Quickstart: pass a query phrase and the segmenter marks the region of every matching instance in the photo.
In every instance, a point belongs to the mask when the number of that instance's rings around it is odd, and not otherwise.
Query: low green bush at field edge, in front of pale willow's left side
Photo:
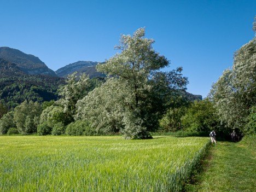
[[[75,121],[67,126],[66,135],[84,135],[84,136],[90,136],[90,135],[96,135],[96,131],[91,128],[89,123],[87,121],[78,120]]]

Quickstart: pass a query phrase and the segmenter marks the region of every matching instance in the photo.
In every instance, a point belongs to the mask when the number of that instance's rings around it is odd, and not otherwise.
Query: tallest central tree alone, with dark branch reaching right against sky
[[[98,71],[118,82],[115,90],[121,94],[117,103],[124,110],[121,132],[125,138],[150,138],[149,131],[158,128],[159,110],[156,109],[161,102],[156,101],[160,96],[156,90],[165,90],[161,85],[184,89],[187,84],[187,78],[180,74],[182,68],[176,73],[159,72],[169,65],[169,61],[152,48],[154,40],[144,38],[144,35],[144,28],[139,28],[133,36],[121,36],[120,45],[115,46],[121,53],[97,65]],[[161,98],[164,101],[164,97]]]

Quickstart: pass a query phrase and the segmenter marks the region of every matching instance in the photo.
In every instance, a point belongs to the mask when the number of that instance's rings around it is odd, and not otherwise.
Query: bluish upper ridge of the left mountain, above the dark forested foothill
[[[44,74],[57,77],[56,73],[49,69],[38,57],[25,54],[18,49],[0,47],[0,58],[16,64],[16,66],[27,74]]]

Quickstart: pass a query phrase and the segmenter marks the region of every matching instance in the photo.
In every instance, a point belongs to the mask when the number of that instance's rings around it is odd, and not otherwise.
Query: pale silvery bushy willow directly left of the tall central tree
[[[122,93],[118,81],[108,79],[77,103],[76,120],[90,122],[97,134],[119,132],[123,125],[124,109],[120,106]]]

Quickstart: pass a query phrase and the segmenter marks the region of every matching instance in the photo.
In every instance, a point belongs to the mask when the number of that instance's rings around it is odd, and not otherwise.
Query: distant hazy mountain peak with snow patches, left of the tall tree
[[[62,67],[56,71],[56,74],[59,77],[67,78],[69,74],[72,74],[74,72],[78,72],[78,76],[81,73],[88,74],[90,78],[102,76],[105,75],[103,73],[96,71],[96,65],[98,62],[93,61],[78,61],[75,63],[71,63],[69,65],[66,65],[65,67]]]

